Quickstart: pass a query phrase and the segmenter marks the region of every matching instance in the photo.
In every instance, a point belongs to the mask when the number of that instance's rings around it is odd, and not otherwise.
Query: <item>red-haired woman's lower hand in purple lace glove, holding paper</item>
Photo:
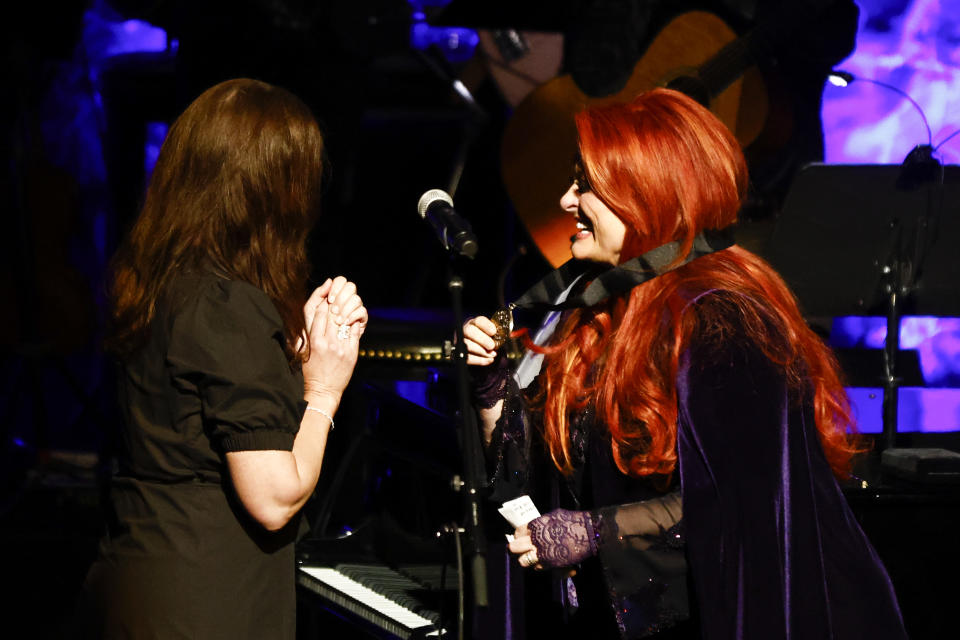
[[[596,555],[596,538],[588,511],[556,509],[518,527],[509,549],[523,567],[570,567]]]

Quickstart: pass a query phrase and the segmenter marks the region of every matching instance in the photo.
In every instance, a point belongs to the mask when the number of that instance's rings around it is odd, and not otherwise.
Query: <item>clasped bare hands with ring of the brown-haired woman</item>
[[[309,402],[311,397],[328,397],[339,402],[357,364],[367,310],[356,285],[337,276],[314,289],[303,313],[310,345],[303,362],[304,398]]]

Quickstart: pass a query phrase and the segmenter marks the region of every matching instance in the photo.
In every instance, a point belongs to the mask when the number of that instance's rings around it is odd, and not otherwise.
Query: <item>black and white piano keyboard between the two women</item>
[[[423,587],[382,565],[301,565],[297,583],[400,638],[440,636],[439,614],[411,595]]]

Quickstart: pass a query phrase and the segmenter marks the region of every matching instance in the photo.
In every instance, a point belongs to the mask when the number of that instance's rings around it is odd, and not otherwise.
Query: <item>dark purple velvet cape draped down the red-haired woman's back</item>
[[[678,373],[687,557],[704,638],[905,638],[812,405],[742,334]]]

